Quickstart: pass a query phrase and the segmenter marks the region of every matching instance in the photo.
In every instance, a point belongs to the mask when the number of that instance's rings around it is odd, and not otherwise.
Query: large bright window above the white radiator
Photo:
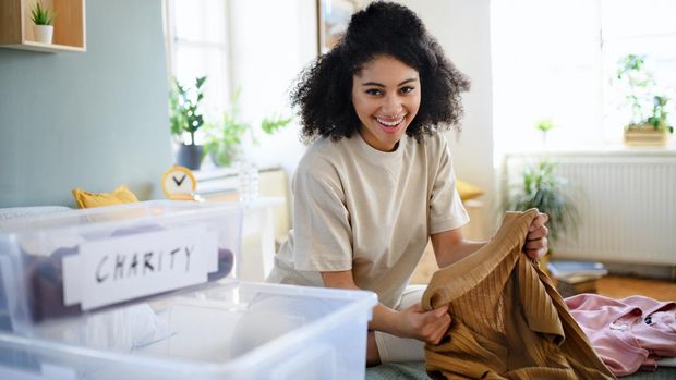
[[[673,1],[495,0],[491,7],[496,157],[545,145],[618,144],[627,121],[609,81],[623,56],[645,54],[660,86],[676,87]],[[676,110],[676,97],[669,105]],[[534,127],[542,119],[556,125],[544,143]]]

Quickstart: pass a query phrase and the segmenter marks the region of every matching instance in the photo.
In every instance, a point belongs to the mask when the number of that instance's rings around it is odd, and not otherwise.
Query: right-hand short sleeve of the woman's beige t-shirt
[[[433,173],[433,185],[430,196],[430,234],[461,228],[470,221],[470,217],[462,206],[460,194],[456,188],[456,173],[448,143],[439,136],[440,143],[436,157],[438,166]],[[434,168],[434,166],[433,166]]]

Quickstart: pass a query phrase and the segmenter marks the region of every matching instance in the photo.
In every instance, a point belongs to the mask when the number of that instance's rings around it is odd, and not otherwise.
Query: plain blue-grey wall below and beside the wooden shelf
[[[172,164],[160,0],[86,0],[86,52],[0,49],[0,207],[157,194]]]

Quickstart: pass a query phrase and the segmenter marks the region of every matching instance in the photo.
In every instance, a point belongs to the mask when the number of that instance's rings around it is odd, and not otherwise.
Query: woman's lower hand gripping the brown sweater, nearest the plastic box
[[[447,311],[448,305],[425,311],[420,303],[414,304],[399,311],[400,331],[397,335],[438,344],[450,326],[450,316]]]

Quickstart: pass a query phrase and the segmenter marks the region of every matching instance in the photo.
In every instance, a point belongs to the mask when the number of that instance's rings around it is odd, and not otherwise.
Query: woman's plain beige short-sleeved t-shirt
[[[391,152],[359,133],[316,140],[293,177],[293,230],[267,281],[323,286],[319,272],[352,270],[359,287],[397,306],[430,235],[469,221],[455,182],[438,133],[405,136]]]

